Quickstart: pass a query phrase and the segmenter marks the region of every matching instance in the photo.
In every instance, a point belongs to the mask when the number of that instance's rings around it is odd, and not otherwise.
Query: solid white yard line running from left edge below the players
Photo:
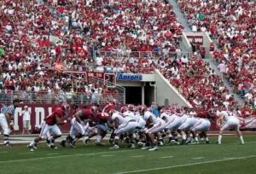
[[[23,162],[23,161],[31,161],[31,160],[41,160],[41,159],[57,159],[57,158],[66,158],[66,157],[74,157],[74,156],[87,156],[87,155],[96,155],[96,154],[112,154],[112,153],[121,153],[121,152],[131,152],[131,150],[119,150],[119,151],[106,151],[100,153],[88,153],[88,154],[66,154],[66,155],[57,155],[57,156],[48,156],[34,159],[14,159],[14,160],[0,160],[0,164],[4,163],[14,163],[14,162]]]

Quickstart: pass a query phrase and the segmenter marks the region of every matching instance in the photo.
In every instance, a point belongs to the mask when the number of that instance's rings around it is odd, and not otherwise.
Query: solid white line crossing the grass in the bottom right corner
[[[256,155],[250,155],[250,156],[242,156],[242,157],[237,157],[237,158],[232,158],[232,159],[208,160],[208,161],[198,162],[198,163],[190,163],[190,164],[185,164],[185,165],[170,165],[170,166],[165,166],[165,167],[156,167],[156,168],[142,169],[142,170],[137,170],[137,171],[121,171],[121,172],[112,173],[112,174],[139,173],[139,172],[144,172],[144,171],[159,171],[159,170],[163,170],[163,169],[172,169],[172,168],[191,166],[191,165],[202,165],[202,164],[209,164],[209,163],[217,163],[217,162],[228,161],[228,160],[251,159],[251,158],[255,158],[255,157],[256,157]]]

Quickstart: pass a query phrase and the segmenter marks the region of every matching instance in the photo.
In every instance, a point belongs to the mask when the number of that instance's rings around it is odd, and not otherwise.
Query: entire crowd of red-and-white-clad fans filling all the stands
[[[236,105],[208,64],[181,55],[178,38],[183,26],[166,1],[42,2],[0,2],[1,91],[44,94],[39,99],[45,94],[60,98],[68,93],[76,96],[74,100],[79,98],[77,93],[87,97],[95,91],[115,96],[117,90],[97,84],[89,88],[90,81],[70,78],[61,71],[153,73],[158,68],[195,107]],[[214,51],[214,59],[224,62],[230,84],[255,107],[255,2],[177,2],[195,32],[218,37],[222,51]],[[245,18],[247,23],[241,22]]]

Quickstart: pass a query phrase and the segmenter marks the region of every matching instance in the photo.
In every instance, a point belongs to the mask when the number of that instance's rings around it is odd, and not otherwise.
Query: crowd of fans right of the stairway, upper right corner
[[[217,38],[212,51],[237,94],[256,106],[256,2],[177,0],[193,32]]]

